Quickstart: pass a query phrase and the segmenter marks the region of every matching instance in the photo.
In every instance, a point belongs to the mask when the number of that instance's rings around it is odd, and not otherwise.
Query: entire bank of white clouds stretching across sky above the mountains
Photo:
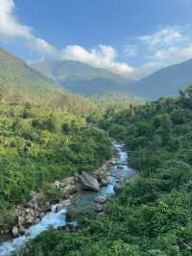
[[[122,49],[127,60],[139,60],[133,67],[118,62],[118,53],[110,45],[98,45],[85,49],[81,45],[65,45],[58,49],[43,38],[36,37],[35,30],[22,24],[15,14],[13,0],[0,0],[0,41],[21,39],[23,45],[36,52],[40,60],[72,60],[94,67],[107,68],[127,78],[137,79],[157,69],[178,64],[192,58],[192,26],[165,26],[149,35],[128,42]],[[140,61],[141,60],[141,61]]]

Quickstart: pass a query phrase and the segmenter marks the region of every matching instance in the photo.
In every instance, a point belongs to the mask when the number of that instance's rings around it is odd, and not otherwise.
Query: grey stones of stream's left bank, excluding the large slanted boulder
[[[100,186],[108,184],[108,167],[115,165],[117,157],[114,152],[113,157],[107,163],[90,172],[98,180]],[[0,226],[1,242],[27,234],[30,226],[37,224],[52,210],[53,205],[57,204],[59,209],[62,207],[63,200],[72,200],[78,192],[83,191],[77,176],[57,180],[48,189],[48,192],[31,192],[30,201],[25,205],[15,205],[15,222],[12,225]]]

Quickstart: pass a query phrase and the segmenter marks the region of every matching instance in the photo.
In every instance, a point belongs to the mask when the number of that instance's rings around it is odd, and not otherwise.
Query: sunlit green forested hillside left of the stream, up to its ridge
[[[32,191],[46,191],[50,183],[111,157],[107,134],[86,119],[140,100],[69,93],[3,49],[0,55],[0,229],[12,231],[14,208],[25,206]]]

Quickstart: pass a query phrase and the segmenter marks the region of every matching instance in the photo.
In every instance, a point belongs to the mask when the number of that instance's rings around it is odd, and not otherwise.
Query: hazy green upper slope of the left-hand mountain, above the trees
[[[0,88],[52,91],[58,85],[0,47]]]

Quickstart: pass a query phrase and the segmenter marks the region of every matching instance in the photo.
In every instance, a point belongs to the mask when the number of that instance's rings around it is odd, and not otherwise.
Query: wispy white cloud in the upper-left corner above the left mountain
[[[13,0],[0,0],[0,39],[22,38],[26,45],[42,55],[56,55],[57,49],[41,38],[36,38],[32,28],[22,25],[14,14]]]

